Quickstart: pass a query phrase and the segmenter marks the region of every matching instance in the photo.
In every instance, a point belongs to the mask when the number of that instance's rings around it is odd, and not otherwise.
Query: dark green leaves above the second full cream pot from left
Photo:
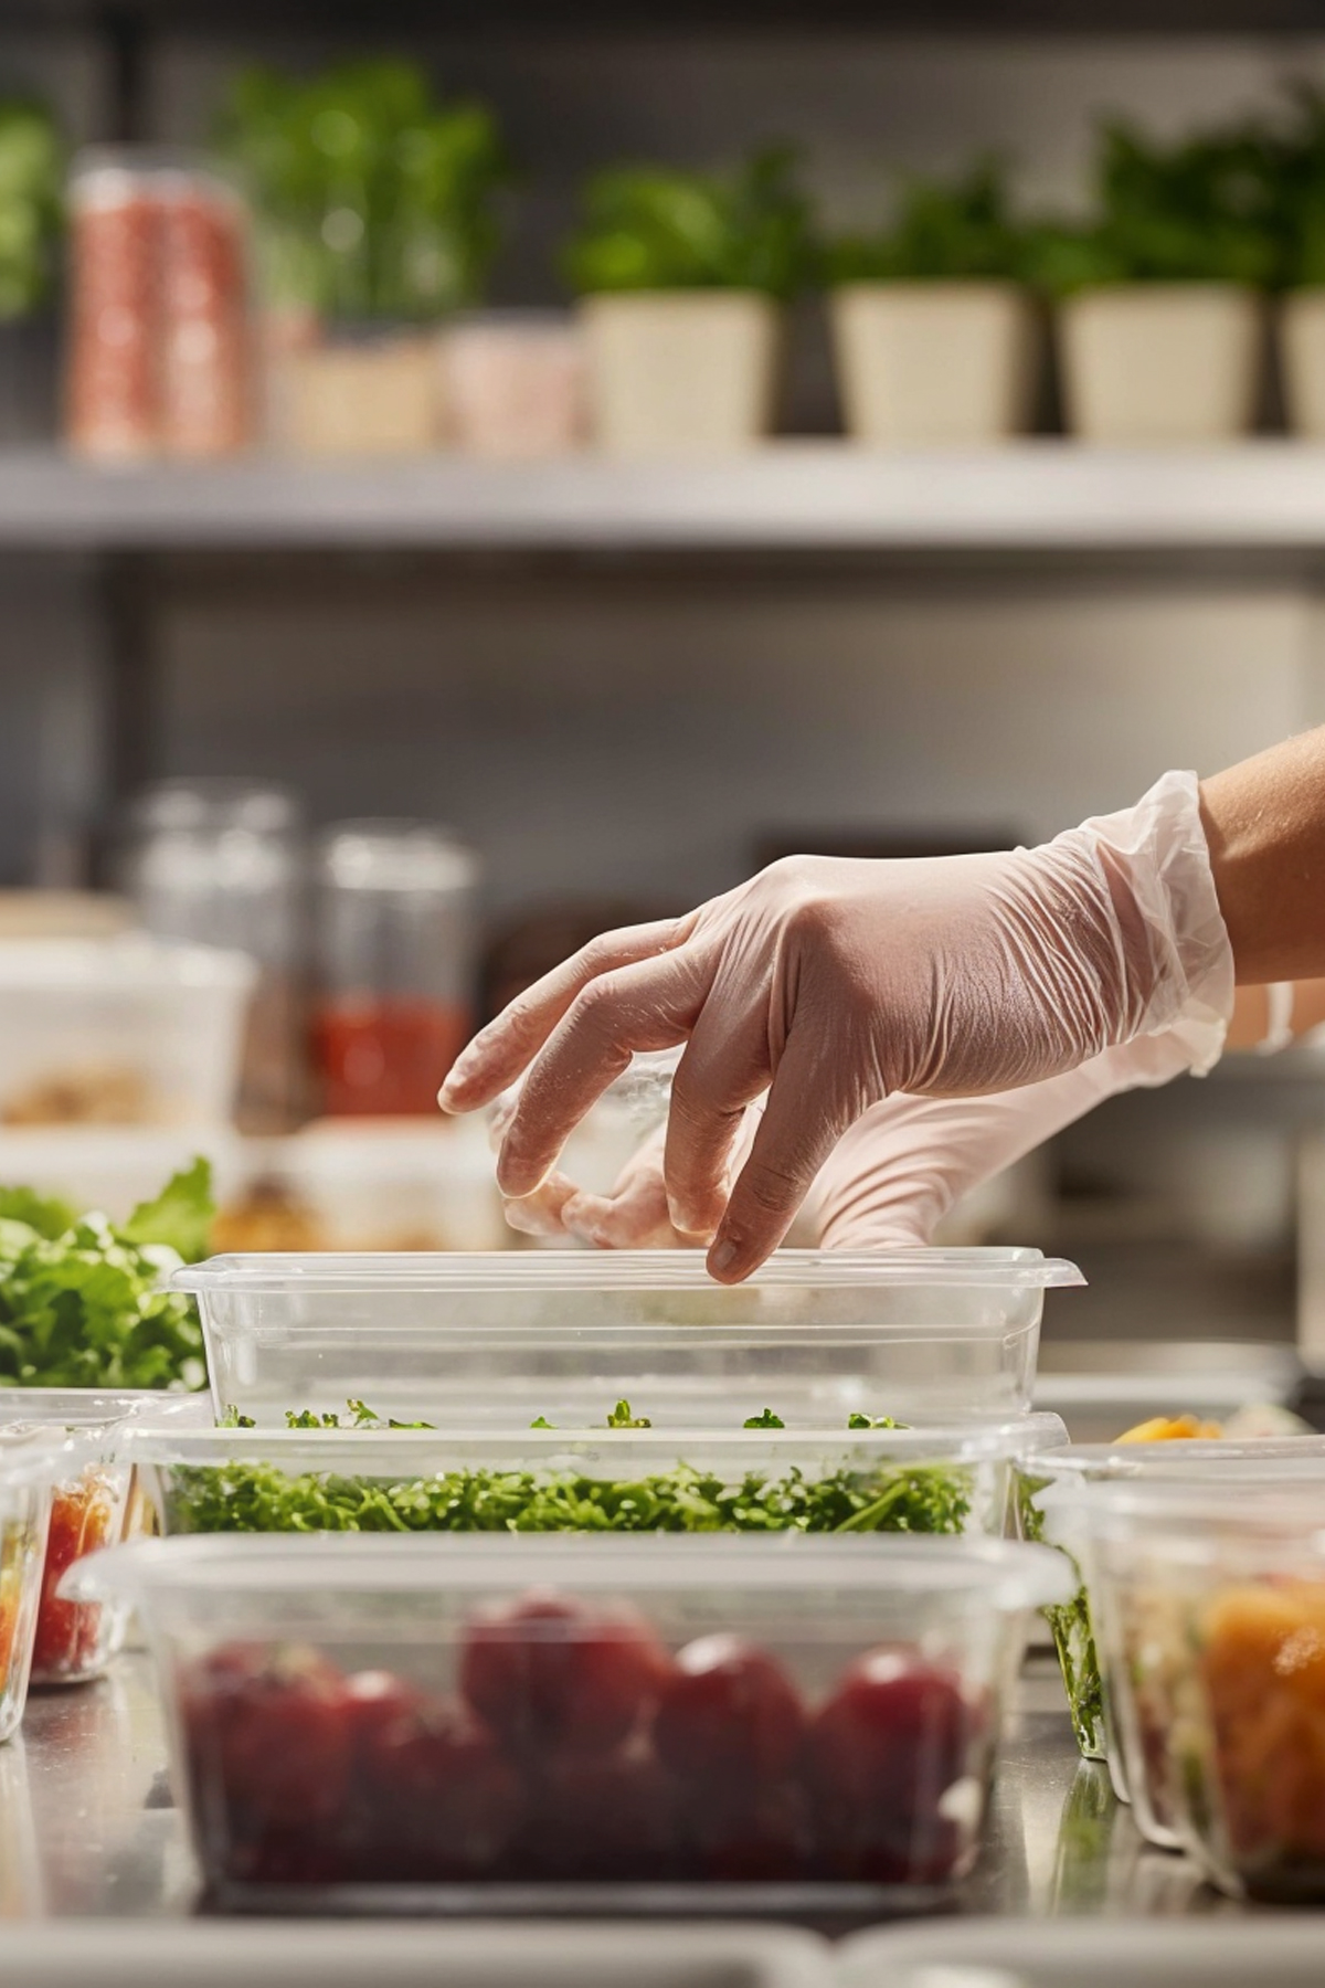
[[[995,159],[957,179],[902,181],[896,215],[878,235],[846,235],[824,250],[824,278],[842,282],[1019,280],[1027,231],[1009,207]]]

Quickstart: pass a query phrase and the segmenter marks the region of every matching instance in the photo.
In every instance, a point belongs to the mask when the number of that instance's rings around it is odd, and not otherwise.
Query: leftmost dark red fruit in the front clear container
[[[217,1797],[236,1835],[318,1829],[346,1805],[346,1680],[302,1644],[228,1644],[181,1682],[199,1809]]]

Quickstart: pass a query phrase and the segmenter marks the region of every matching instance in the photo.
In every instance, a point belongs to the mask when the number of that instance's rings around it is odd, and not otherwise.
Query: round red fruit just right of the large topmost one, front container
[[[654,1743],[681,1781],[741,1801],[791,1771],[805,1726],[805,1706],[771,1656],[739,1636],[701,1636],[675,1660]]]

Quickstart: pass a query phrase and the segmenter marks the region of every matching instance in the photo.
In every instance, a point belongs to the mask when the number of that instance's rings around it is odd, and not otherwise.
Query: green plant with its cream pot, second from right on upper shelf
[[[1045,225],[1031,243],[1033,274],[1059,296],[1069,429],[1124,445],[1246,433],[1277,266],[1259,129],[1160,145],[1106,125],[1097,219]]]

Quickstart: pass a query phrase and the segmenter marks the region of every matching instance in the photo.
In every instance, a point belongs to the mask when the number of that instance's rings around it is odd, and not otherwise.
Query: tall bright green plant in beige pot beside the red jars
[[[222,139],[256,205],[270,419],[312,453],[435,447],[437,330],[483,292],[505,157],[491,111],[421,68],[244,72]]]

